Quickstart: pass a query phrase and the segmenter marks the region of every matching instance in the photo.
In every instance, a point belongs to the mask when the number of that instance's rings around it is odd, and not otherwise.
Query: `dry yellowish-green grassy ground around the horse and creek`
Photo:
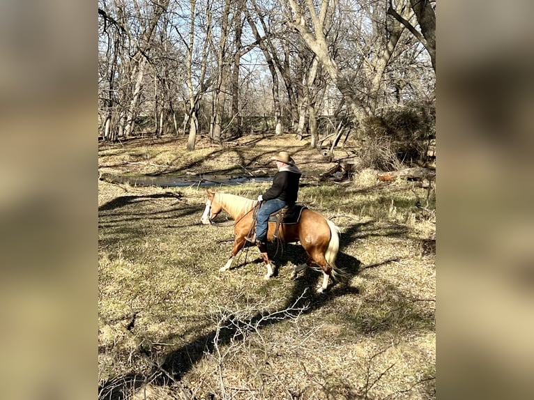
[[[270,245],[268,281],[256,247],[219,272],[233,228],[204,226],[204,188],[99,182],[100,397],[133,399],[435,399],[434,194],[380,183],[319,182],[333,167],[291,137],[233,146],[132,140],[99,148],[100,173],[243,174],[295,153],[299,202],[340,229],[348,277],[315,293],[319,272],[289,279],[303,249]],[[353,157],[350,148],[337,159]],[[218,188],[254,198],[268,183]]]

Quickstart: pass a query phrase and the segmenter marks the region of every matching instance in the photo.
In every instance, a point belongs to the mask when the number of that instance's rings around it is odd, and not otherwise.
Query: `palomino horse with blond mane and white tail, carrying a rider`
[[[229,270],[234,257],[245,245],[245,236],[249,233],[253,222],[252,210],[257,201],[235,194],[215,193],[211,190],[206,190],[206,192],[208,193],[208,201],[206,201],[206,209],[200,219],[202,224],[211,224],[221,210],[226,211],[234,220],[234,233],[236,235],[234,248],[231,250],[227,263],[220,268],[220,271]],[[269,222],[267,240],[270,242],[273,241],[274,232],[275,223]],[[306,263],[293,270],[292,279],[307,266],[316,264],[323,271],[323,285],[317,291],[320,293],[325,291],[328,287],[328,277],[335,277],[336,273],[340,272],[335,266],[335,259],[340,248],[339,233],[340,229],[333,222],[316,211],[308,209],[303,210],[298,224],[280,225],[277,237],[284,243],[300,242],[309,256]],[[259,251],[267,267],[265,279],[269,279],[273,276],[273,267],[270,265],[266,246],[259,246]]]

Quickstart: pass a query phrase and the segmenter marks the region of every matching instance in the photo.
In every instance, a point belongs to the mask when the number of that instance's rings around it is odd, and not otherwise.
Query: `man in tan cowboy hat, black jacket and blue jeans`
[[[285,206],[293,206],[297,201],[298,183],[302,175],[295,160],[286,151],[281,151],[271,160],[276,161],[278,172],[273,178],[273,185],[258,196],[258,201],[263,203],[256,215],[257,246],[266,244],[269,215]]]

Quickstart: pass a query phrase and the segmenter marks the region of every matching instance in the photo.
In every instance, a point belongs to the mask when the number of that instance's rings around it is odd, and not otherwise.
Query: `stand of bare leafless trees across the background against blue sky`
[[[194,150],[201,130],[223,141],[261,114],[262,129],[273,118],[275,134],[287,124],[319,146],[318,121],[331,118],[335,146],[369,116],[432,105],[434,8],[418,0],[99,0],[99,132],[116,140],[146,126],[157,136],[180,131]]]

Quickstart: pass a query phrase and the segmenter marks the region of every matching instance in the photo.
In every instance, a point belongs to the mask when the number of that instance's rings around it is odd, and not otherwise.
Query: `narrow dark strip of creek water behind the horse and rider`
[[[101,180],[109,183],[128,183],[132,186],[159,186],[159,187],[209,187],[221,185],[243,185],[253,182],[270,182],[269,176],[233,176],[224,178],[221,176],[121,176],[102,174]]]

